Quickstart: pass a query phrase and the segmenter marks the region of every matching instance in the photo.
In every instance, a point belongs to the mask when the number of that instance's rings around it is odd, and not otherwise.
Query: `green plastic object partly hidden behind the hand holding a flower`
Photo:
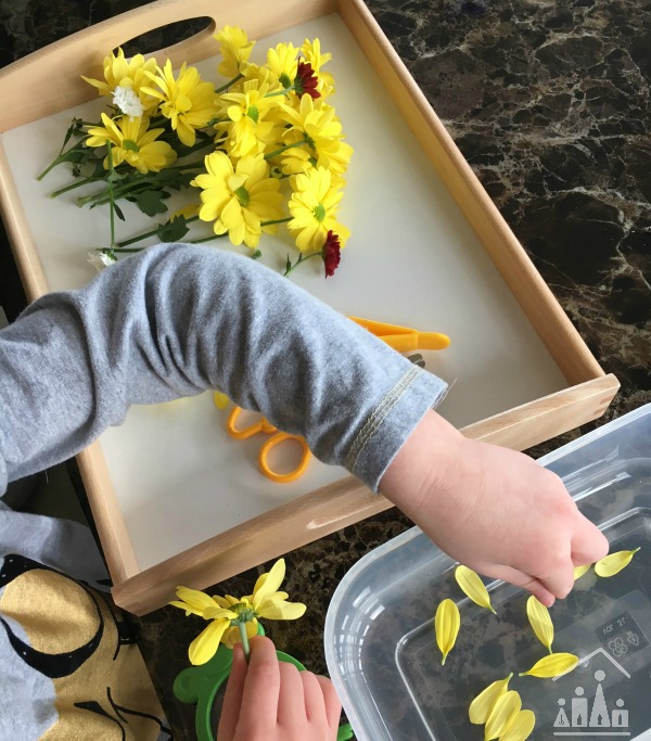
[[[264,636],[265,630],[258,623],[258,635]],[[299,672],[305,672],[305,666],[290,656],[289,653],[277,651],[279,661],[294,664]],[[210,711],[219,688],[228,679],[233,663],[232,649],[224,643],[219,644],[217,653],[210,661],[200,666],[189,666],[177,675],[174,680],[174,694],[177,700],[196,705],[194,714],[194,728],[196,741],[215,741],[210,724]],[[348,724],[341,726],[337,732],[337,741],[348,741],[353,738],[353,729]]]

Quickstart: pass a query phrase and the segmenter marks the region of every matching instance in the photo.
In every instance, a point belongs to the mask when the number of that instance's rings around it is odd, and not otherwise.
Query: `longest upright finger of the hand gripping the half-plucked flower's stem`
[[[276,727],[280,693],[278,664],[273,643],[264,636],[254,636],[251,639],[251,655],[242,695],[243,706],[255,708],[254,713],[247,715],[247,725]]]

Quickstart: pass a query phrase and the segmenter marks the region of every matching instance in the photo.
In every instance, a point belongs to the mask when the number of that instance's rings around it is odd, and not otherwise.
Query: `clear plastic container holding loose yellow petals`
[[[553,650],[576,653],[560,679],[519,677],[547,649],[526,617],[528,595],[486,580],[495,616],[460,591],[455,562],[412,528],[362,558],[335,591],[326,621],[330,675],[359,741],[472,741],[473,698],[514,673],[510,689],[536,714],[531,739],[651,739],[651,405],[539,461],[558,473],[611,552],[641,547],[611,578],[590,570],[551,609]],[[461,611],[445,666],[433,617]]]

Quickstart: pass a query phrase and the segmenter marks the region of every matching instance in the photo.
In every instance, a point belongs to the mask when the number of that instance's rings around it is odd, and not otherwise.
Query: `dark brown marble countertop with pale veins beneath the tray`
[[[0,0],[0,64],[138,0]],[[651,401],[651,0],[369,0],[369,7],[603,368],[622,389],[602,420]],[[154,49],[179,33],[156,33]],[[142,48],[142,44],[140,46]],[[7,245],[0,290],[21,304]],[[538,446],[541,455],[592,425]],[[409,526],[387,512],[288,555],[309,603],[269,634],[324,672],[321,634],[339,580]],[[258,570],[216,591],[247,593]],[[171,697],[196,624],[174,609],[139,621],[178,738]]]

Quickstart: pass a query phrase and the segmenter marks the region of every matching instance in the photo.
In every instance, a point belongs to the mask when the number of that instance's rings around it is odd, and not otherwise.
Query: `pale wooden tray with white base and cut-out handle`
[[[158,52],[159,62],[199,62],[216,80],[212,34],[227,24],[258,39],[256,61],[278,41],[315,36],[334,54],[333,104],[355,149],[341,215],[353,238],[334,278],[306,266],[296,282],[346,314],[449,334],[451,346],[425,354],[426,367],[454,383],[439,410],[471,437],[524,449],[603,413],[616,379],[604,375],[359,0],[161,0],[0,72],[0,205],[31,299],[88,282],[86,252],[106,241],[106,214],[48,197],[69,181],[65,167],[36,181],[73,114],[93,120],[104,105],[79,75],[101,77],[111,49],[201,16],[209,28]],[[141,230],[138,218],[129,212],[130,232],[118,239]],[[263,242],[270,267],[284,263],[284,240]],[[205,588],[391,507],[316,461],[294,484],[268,482],[255,463],[259,442],[231,440],[224,425],[209,394],[136,407],[79,455],[123,608],[144,614],[179,584]]]

